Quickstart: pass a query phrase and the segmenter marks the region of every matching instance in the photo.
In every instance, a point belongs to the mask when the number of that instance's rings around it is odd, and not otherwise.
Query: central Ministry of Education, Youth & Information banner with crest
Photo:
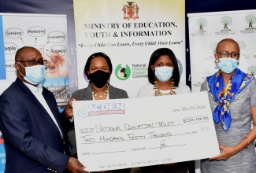
[[[180,82],[186,83],[184,0],[74,0],[73,6],[79,89],[88,84],[83,75],[87,58],[102,52],[113,64],[110,83],[135,98],[148,83],[150,55],[162,47],[173,50]]]

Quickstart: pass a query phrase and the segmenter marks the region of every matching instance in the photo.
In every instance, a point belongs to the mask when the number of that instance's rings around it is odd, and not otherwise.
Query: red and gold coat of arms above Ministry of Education
[[[134,4],[135,2],[127,2],[127,5],[123,6],[124,20],[139,19],[139,6]]]

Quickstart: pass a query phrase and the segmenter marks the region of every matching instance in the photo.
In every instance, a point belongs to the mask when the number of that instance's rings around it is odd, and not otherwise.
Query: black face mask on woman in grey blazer
[[[89,75],[91,83],[95,84],[97,88],[102,88],[109,78],[110,74],[108,72],[103,72],[102,70],[97,70]]]

